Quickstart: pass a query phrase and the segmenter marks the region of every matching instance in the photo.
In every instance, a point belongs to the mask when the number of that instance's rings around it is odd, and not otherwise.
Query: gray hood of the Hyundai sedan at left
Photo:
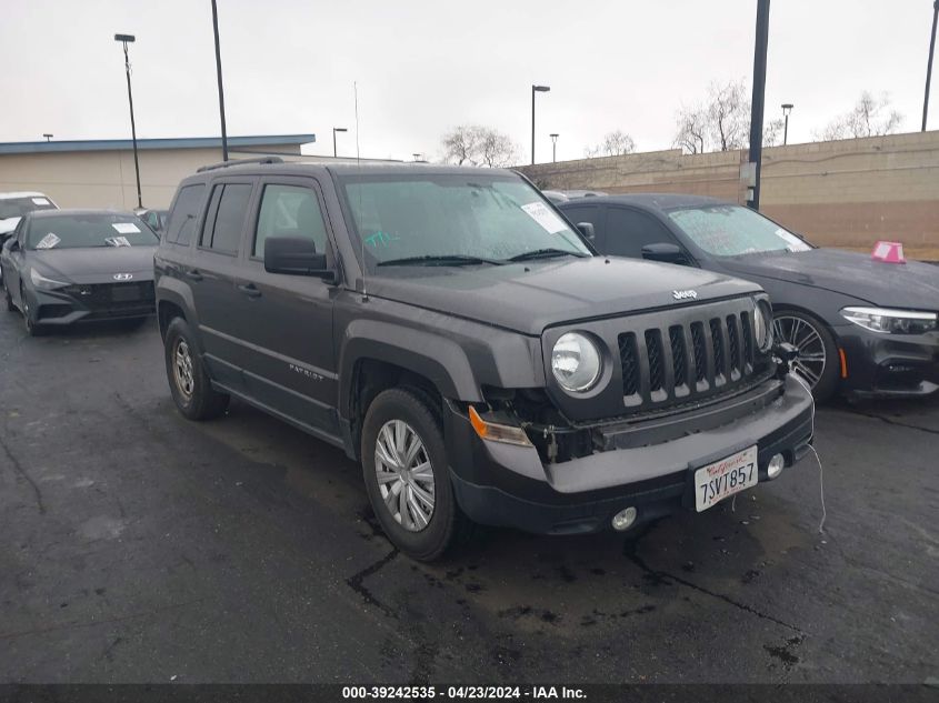
[[[29,261],[43,275],[71,283],[110,283],[116,273],[131,273],[133,281],[150,281],[156,252],[156,247],[44,249],[30,251]]]

